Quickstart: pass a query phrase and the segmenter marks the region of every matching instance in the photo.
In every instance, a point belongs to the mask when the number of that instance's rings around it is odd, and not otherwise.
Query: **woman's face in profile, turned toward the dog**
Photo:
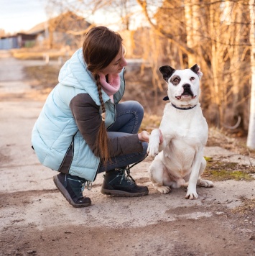
[[[101,70],[103,75],[121,73],[121,70],[126,66],[126,60],[124,58],[124,47],[121,47],[119,53],[112,60],[112,62]]]

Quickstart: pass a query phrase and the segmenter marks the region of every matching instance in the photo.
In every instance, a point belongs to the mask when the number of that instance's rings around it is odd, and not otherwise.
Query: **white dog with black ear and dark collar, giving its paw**
[[[187,186],[185,198],[198,198],[197,185],[213,187],[210,180],[200,178],[206,166],[203,149],[208,139],[208,124],[199,104],[203,73],[197,64],[185,70],[164,65],[159,71],[168,83],[168,97],[164,99],[170,103],[164,108],[159,129],[149,136],[148,155],[157,155],[149,176],[161,193]]]

